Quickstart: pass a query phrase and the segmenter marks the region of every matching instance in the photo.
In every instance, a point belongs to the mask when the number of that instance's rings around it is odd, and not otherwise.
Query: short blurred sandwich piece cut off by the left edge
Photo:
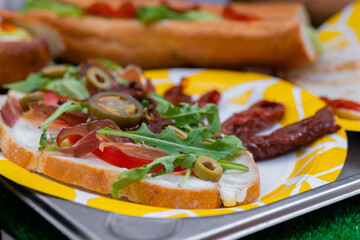
[[[37,72],[63,49],[49,26],[0,9],[0,86]]]

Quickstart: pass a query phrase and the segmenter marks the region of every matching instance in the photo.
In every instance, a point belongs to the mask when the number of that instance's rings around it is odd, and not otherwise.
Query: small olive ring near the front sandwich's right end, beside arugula
[[[208,156],[200,156],[194,163],[194,173],[206,181],[218,182],[222,175],[221,164]]]

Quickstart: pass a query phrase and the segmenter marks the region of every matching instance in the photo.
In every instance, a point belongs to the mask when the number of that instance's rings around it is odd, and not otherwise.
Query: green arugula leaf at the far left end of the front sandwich
[[[51,82],[50,78],[43,77],[41,72],[30,74],[24,81],[4,85],[6,89],[15,89],[20,92],[31,92]]]

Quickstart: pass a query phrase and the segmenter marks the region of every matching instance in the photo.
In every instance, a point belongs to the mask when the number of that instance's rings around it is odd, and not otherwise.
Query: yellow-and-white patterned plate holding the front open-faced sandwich
[[[222,121],[261,99],[282,102],[286,108],[285,116],[272,130],[309,117],[324,106],[321,100],[300,87],[257,73],[170,69],[148,71],[145,75],[153,79],[159,93],[163,93],[173,83],[179,83],[183,77],[189,80],[186,87],[188,94],[196,96],[217,89],[222,93],[219,102]],[[150,207],[98,196],[30,173],[5,158],[0,158],[0,174],[37,191],[110,212],[159,218],[202,217],[261,207],[333,182],[343,167],[346,152],[346,133],[341,129],[296,151],[259,162],[261,196],[257,202],[241,207],[210,210]]]

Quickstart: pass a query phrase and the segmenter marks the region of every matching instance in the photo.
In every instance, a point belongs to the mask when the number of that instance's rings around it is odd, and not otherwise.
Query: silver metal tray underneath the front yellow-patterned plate
[[[213,217],[129,217],[44,195],[3,177],[0,182],[71,239],[234,239],[359,194],[360,133],[348,132],[348,138],[348,156],[335,182],[256,209]]]

